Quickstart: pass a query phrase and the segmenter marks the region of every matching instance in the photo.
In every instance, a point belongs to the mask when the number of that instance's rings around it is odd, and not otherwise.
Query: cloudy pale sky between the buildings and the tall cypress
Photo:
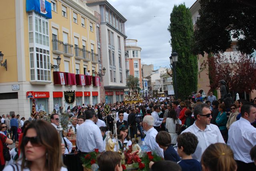
[[[170,14],[174,4],[190,8],[196,0],[108,0],[127,19],[127,39],[137,39],[142,64],[154,64],[154,69],[170,67]]]

